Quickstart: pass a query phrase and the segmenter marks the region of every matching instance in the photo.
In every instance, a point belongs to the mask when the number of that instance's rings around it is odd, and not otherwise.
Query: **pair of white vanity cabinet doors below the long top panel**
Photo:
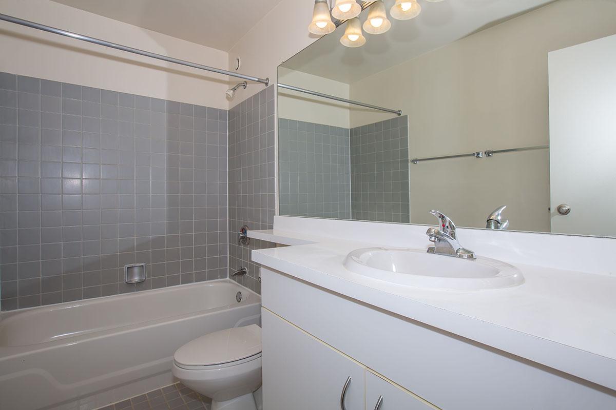
[[[435,409],[269,310],[261,320],[264,409]]]

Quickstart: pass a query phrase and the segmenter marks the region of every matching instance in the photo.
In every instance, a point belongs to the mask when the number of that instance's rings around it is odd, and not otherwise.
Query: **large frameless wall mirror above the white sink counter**
[[[394,2],[278,68],[280,214],[616,236],[616,0]]]

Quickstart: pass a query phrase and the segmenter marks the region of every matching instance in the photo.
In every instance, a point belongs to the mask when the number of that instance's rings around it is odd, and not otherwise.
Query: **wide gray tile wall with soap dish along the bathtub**
[[[2,310],[227,277],[227,111],[0,73],[0,144]]]

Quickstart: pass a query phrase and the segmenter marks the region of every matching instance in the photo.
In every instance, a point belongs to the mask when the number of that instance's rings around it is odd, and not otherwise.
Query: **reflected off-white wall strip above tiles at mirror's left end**
[[[278,81],[302,89],[349,98],[349,84],[301,71],[281,67],[278,69]],[[350,128],[349,104],[286,89],[278,89],[278,117]]]

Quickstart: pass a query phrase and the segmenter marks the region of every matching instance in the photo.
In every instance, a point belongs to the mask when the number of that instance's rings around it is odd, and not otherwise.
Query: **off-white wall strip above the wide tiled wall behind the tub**
[[[182,60],[226,68],[221,50],[49,0],[0,0],[0,13]],[[227,76],[0,22],[0,71],[227,109]]]

